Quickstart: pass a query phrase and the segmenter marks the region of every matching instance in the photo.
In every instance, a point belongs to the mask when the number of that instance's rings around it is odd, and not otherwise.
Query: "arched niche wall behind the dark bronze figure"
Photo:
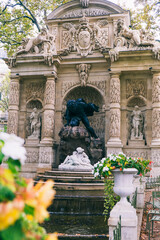
[[[71,89],[64,97],[62,102],[62,118],[63,124],[65,124],[64,113],[65,106],[68,100],[70,99],[78,99],[83,98],[87,103],[92,102],[99,106],[99,112],[95,113],[94,116],[89,117],[89,122],[91,126],[94,128],[96,134],[104,140],[105,136],[105,112],[103,111],[104,106],[104,97],[102,94],[94,87],[86,86],[76,86]]]

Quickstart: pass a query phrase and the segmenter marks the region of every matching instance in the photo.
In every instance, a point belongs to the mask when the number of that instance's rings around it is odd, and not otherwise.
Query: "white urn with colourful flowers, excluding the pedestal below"
[[[151,170],[151,161],[142,158],[127,157],[124,153],[111,154],[94,165],[94,177],[114,175],[114,192],[127,201],[126,197],[134,192],[133,175],[144,176]]]

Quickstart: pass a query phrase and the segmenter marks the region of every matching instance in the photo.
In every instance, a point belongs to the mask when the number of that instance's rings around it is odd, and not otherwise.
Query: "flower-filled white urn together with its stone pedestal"
[[[151,170],[151,161],[142,158],[127,157],[124,153],[111,154],[94,165],[95,178],[107,178],[114,175],[114,192],[121,197],[110,212],[108,219],[109,235],[117,226],[121,216],[121,231],[125,239],[137,240],[137,215],[136,209],[127,201],[127,196],[134,192],[133,176],[144,176]],[[127,235],[126,235],[127,234]]]

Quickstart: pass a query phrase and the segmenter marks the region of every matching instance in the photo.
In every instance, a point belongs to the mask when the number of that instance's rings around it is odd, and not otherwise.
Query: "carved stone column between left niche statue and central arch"
[[[42,121],[42,140],[39,151],[39,168],[51,169],[55,162],[54,150],[54,122],[55,122],[55,81],[56,72],[46,76],[44,93],[44,113]]]

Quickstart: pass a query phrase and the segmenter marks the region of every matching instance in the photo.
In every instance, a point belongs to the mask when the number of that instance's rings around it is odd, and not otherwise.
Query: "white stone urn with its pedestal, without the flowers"
[[[132,184],[133,175],[137,173],[134,168],[119,169],[113,171],[114,174],[114,192],[121,196],[121,200],[113,207],[108,220],[109,239],[113,239],[113,230],[117,226],[119,216],[121,216],[121,239],[137,240],[137,215],[136,209],[127,201],[126,197],[134,192]]]

